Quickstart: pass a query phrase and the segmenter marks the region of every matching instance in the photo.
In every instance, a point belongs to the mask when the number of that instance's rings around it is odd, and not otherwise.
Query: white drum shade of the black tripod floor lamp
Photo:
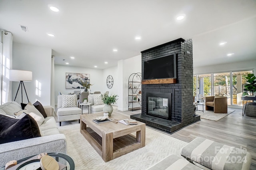
[[[10,81],[32,81],[32,72],[24,70],[10,70]]]

